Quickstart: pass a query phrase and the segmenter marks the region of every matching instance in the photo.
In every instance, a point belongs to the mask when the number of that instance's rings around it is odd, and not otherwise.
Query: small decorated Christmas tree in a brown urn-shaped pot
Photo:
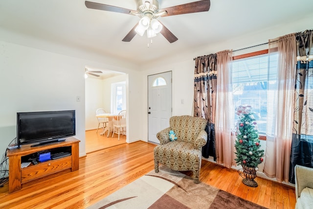
[[[251,106],[243,105],[236,108],[239,116],[237,123],[236,163],[242,165],[246,179],[244,184],[256,187],[257,183],[253,180],[256,177],[258,164],[263,162],[264,150],[260,149],[260,139],[258,126],[253,116]]]

